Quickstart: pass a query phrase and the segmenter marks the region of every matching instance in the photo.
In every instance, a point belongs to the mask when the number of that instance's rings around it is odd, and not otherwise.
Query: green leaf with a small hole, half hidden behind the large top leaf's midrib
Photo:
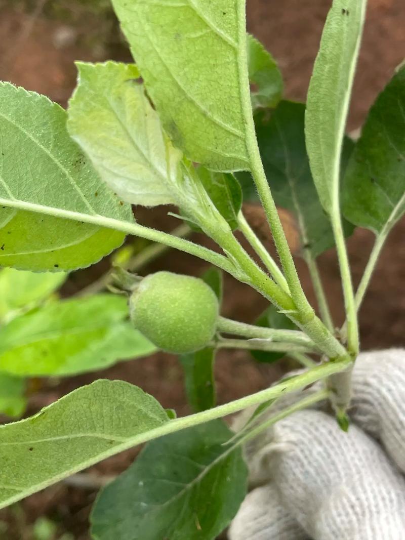
[[[249,81],[257,88],[251,90],[252,109],[275,107],[282,96],[284,84],[279,67],[264,46],[247,35]]]

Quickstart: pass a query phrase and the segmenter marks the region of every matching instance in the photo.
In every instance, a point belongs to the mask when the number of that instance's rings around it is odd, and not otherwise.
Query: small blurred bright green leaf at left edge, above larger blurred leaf
[[[0,319],[9,312],[46,300],[66,280],[63,272],[35,273],[15,268],[0,270]]]

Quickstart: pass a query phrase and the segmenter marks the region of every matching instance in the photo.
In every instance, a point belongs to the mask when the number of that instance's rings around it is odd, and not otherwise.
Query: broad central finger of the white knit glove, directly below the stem
[[[343,434],[332,416],[307,410],[276,424],[274,441],[281,501],[311,538],[405,538],[405,480],[361,429]]]

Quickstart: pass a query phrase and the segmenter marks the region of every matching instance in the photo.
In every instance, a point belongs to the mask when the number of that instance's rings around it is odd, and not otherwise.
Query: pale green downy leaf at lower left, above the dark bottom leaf
[[[0,508],[149,440],[168,421],[140,388],[99,380],[0,426]]]

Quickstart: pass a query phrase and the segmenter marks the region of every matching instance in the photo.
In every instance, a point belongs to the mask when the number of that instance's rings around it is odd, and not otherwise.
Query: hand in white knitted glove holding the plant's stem
[[[252,483],[264,485],[230,540],[405,540],[405,350],[359,355],[353,394],[348,433],[320,403],[248,444]]]

